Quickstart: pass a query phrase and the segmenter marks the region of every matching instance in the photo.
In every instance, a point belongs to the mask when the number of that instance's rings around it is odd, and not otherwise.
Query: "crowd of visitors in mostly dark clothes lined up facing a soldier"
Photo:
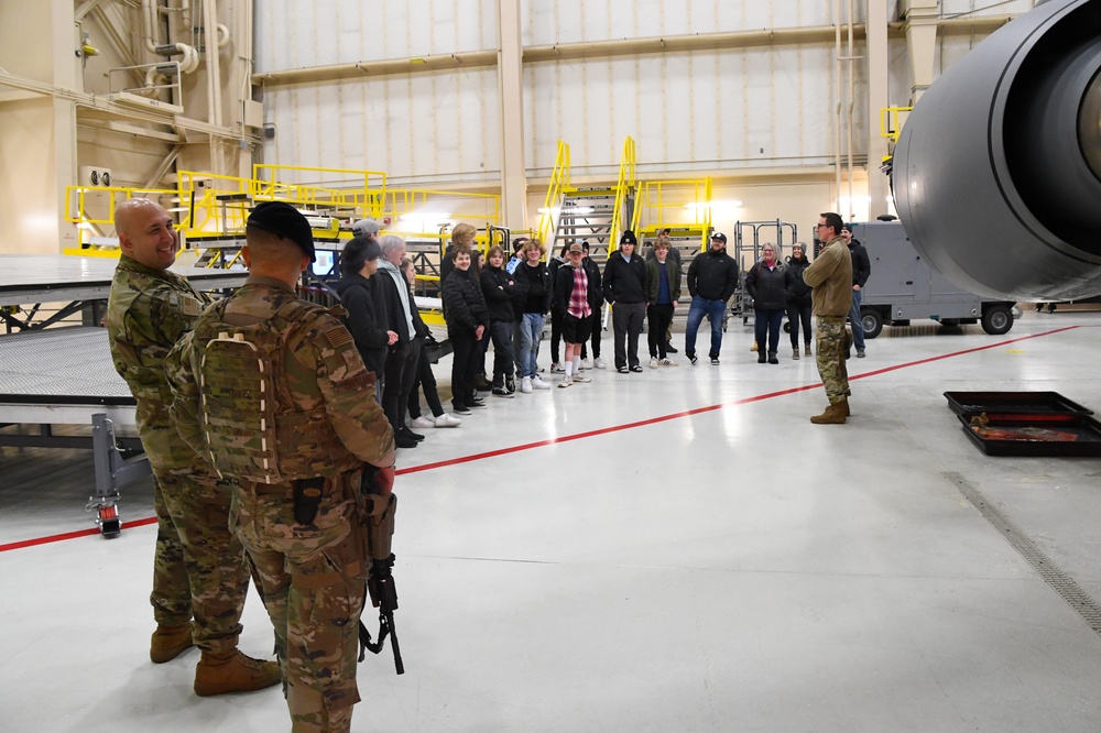
[[[402,448],[413,448],[424,439],[414,428],[455,427],[462,417],[484,408],[487,398],[480,393],[511,398],[517,392],[549,390],[555,382],[566,389],[591,381],[586,370],[607,366],[600,358],[606,303],[612,306],[617,372],[643,371],[639,349],[644,325],[650,366],[678,364],[673,357],[677,349],[672,343],[672,322],[684,291],[689,303],[685,357],[690,364],[698,363],[697,332],[706,317],[711,331],[708,357],[718,365],[728,303],[741,277],[721,232],[711,234],[709,247],[693,258],[685,273],[668,230],[658,232],[645,258],[634,232],[626,230],[601,271],[590,256],[588,241],[567,242],[547,259],[541,240],[519,238],[512,242],[511,256],[501,247],[492,247],[482,261],[475,228],[460,223],[451,231],[440,263],[439,293],[454,354],[448,414],[425,353],[432,333],[413,297],[414,267],[405,258],[404,241],[396,236],[380,239],[378,225],[370,219],[357,222],[353,230],[356,238],[344,251],[345,275],[337,292],[349,311],[357,346],[380,384],[383,408]],[[745,273],[743,286],[753,302],[760,363],[780,363],[785,315],[791,324],[792,358],[813,355],[814,288],[804,280],[809,267],[802,242],[793,245],[786,259],[778,247],[765,243]],[[854,269],[853,292],[862,285],[857,280],[866,280],[866,274],[859,273],[861,269]],[[550,363],[544,372],[537,360],[548,321]],[[432,417],[422,415],[421,391]]]

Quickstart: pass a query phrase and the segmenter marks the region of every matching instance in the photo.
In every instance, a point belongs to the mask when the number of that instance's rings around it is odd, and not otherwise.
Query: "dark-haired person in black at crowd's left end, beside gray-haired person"
[[[350,240],[340,253],[340,280],[334,288],[348,311],[345,324],[356,339],[356,348],[374,374],[374,394],[380,404],[386,347],[397,341],[397,333],[386,328],[385,305],[371,282],[381,256],[382,248],[374,240],[367,237]]]

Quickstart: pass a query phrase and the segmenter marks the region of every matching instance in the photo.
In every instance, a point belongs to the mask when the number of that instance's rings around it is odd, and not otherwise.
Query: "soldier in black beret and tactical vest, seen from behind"
[[[292,731],[351,725],[370,558],[364,462],[393,484],[394,436],[374,375],[333,310],[294,285],[314,259],[309,225],[283,203],[249,217],[250,276],[206,309],[165,365],[179,434],[235,479],[232,521],[275,626]]]

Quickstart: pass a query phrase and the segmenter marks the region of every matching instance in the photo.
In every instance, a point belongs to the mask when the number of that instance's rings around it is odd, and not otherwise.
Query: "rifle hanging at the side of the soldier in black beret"
[[[405,674],[402,663],[402,650],[397,644],[397,631],[394,628],[394,611],[397,609],[397,587],[394,586],[394,554],[390,551],[390,543],[394,533],[394,514],[397,511],[397,497],[391,494],[383,497],[379,492],[375,474],[379,469],[373,466],[363,467],[363,494],[368,502],[368,550],[371,555],[371,578],[367,588],[371,594],[371,604],[379,609],[379,641],[371,641],[371,632],[363,622],[359,622],[359,660],[366,656],[364,649],[380,654],[390,637],[390,647],[394,653],[394,668],[399,675]],[[367,599],[364,599],[366,601]]]

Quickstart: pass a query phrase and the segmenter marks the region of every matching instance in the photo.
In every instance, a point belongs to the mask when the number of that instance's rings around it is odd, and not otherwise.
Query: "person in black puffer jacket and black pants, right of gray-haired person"
[[[481,366],[479,342],[489,329],[489,308],[470,261],[469,247],[455,247],[451,251],[455,267],[444,280],[444,313],[454,358],[451,409],[459,415],[469,415],[471,407],[486,406],[475,389],[475,376]]]

